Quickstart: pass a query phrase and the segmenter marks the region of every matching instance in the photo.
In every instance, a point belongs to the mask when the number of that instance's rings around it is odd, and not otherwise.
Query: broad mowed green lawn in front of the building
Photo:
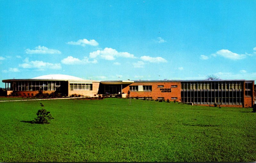
[[[31,124],[45,109],[50,124]],[[0,103],[0,162],[253,162],[251,108],[106,98]]]

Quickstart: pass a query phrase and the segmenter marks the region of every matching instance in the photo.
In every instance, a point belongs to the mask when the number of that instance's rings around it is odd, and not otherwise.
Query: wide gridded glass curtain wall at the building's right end
[[[181,101],[194,104],[242,105],[244,82],[181,82]]]

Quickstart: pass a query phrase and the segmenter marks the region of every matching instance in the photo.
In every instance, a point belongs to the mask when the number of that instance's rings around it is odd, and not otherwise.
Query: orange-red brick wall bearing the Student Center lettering
[[[157,97],[164,97],[165,100],[169,99],[174,101],[175,99],[171,99],[171,97],[177,97],[176,101],[180,101],[181,99],[181,89],[180,82],[134,82],[130,84],[132,85],[151,85],[152,91],[130,91],[130,97],[152,97],[153,99],[157,99]],[[163,88],[158,88],[158,85],[164,85]],[[171,88],[171,85],[177,85],[177,88]],[[127,93],[130,89],[129,86],[123,88],[123,92]],[[162,92],[160,89],[171,89],[171,92]]]

